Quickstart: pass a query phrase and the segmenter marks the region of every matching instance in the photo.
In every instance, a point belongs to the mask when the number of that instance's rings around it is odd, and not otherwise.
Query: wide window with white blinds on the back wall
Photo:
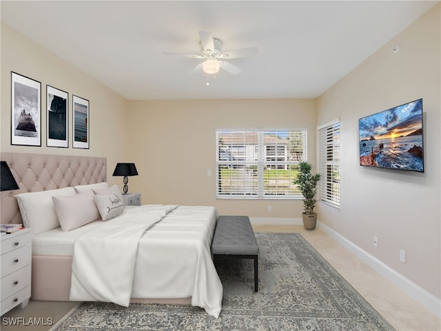
[[[301,199],[293,181],[306,146],[306,130],[216,130],[216,197]]]

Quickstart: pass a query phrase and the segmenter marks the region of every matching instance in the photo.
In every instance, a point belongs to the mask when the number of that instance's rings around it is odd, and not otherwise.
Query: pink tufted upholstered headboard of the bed
[[[0,160],[8,163],[20,188],[1,192],[2,224],[22,223],[16,194],[101,183],[107,176],[105,157],[1,152]]]

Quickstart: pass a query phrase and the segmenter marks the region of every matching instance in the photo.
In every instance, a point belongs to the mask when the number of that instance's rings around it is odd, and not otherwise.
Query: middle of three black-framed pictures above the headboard
[[[68,92],[46,86],[46,119],[48,147],[69,147],[68,143]]]

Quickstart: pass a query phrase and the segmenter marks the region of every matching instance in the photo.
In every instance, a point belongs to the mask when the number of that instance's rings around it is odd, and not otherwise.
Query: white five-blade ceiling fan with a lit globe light
[[[222,52],[222,41],[214,38],[210,32],[206,31],[199,31],[199,39],[201,39],[202,48],[202,52],[199,55],[176,52],[163,52],[163,54],[181,55],[183,57],[189,57],[192,59],[204,59],[205,61],[199,63],[191,73],[203,70],[203,72],[206,74],[217,74],[220,68],[222,68],[230,74],[238,74],[242,70],[225,60],[237,59],[239,57],[251,57],[253,55],[257,55],[259,52],[257,47]]]

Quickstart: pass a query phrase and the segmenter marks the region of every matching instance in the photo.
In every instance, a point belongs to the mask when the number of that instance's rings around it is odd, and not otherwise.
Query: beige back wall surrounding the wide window
[[[298,200],[216,199],[215,130],[307,128],[308,160],[314,163],[314,100],[132,101],[128,114],[130,154],[140,173],[130,190],[142,192],[143,203],[215,205],[220,214],[250,217],[301,216]]]

